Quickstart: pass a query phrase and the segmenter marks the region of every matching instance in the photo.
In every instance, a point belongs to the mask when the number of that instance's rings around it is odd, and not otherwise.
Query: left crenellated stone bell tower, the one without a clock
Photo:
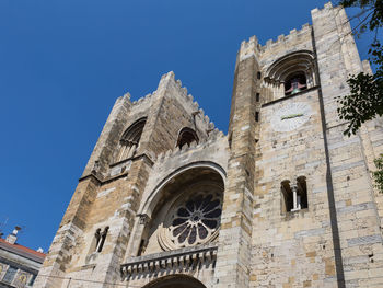
[[[173,72],[153,94],[137,102],[129,94],[117,99],[34,287],[83,287],[76,279],[106,287],[120,279],[150,171],[159,154],[175,149],[184,127],[199,141],[213,130]],[[139,247],[132,249],[136,255]]]

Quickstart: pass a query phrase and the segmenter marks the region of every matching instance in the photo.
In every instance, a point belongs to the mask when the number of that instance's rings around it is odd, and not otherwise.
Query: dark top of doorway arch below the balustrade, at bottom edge
[[[186,275],[172,275],[155,279],[142,288],[206,288],[206,286]]]

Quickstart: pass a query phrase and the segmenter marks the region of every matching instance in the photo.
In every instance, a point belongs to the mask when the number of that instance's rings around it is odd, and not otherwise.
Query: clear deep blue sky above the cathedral
[[[241,42],[300,28],[325,2],[0,0],[0,228],[46,251],[115,100],[167,71],[227,131]]]

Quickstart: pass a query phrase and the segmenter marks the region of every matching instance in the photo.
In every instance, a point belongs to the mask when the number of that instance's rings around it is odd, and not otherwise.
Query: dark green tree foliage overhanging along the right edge
[[[362,123],[383,115],[383,47],[378,39],[379,30],[383,26],[383,0],[341,0],[339,4],[359,7],[361,13],[358,18],[367,14],[357,25],[358,31],[353,31],[356,34],[361,35],[367,28],[375,33],[369,49],[370,61],[376,66],[375,74],[360,72],[351,76],[347,80],[350,93],[338,99],[338,115],[349,122],[344,134],[350,136]],[[372,176],[383,193],[383,154],[374,160],[374,164],[378,170],[372,172]]]

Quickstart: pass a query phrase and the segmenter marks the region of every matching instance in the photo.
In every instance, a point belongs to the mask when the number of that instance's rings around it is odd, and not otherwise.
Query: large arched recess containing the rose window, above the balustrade
[[[171,177],[151,199],[151,221],[143,230],[138,254],[214,242],[223,189],[221,174],[207,166],[190,168]]]

